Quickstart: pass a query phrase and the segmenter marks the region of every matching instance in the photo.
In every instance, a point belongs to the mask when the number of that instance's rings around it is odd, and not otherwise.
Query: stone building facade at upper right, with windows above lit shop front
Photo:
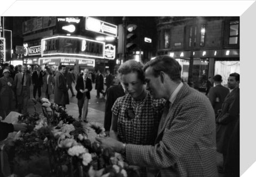
[[[239,70],[239,17],[157,17],[157,55],[167,54],[182,66],[182,79],[204,91],[220,74],[227,84]]]

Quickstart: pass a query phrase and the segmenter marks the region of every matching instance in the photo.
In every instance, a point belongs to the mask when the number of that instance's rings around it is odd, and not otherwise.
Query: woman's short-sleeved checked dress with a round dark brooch
[[[112,112],[118,117],[119,140],[132,144],[154,144],[164,104],[164,99],[153,99],[148,92],[142,101],[135,101],[130,94],[118,98]]]

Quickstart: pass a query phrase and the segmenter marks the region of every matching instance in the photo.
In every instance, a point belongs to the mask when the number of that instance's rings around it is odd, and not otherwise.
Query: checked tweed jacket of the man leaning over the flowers
[[[129,164],[157,168],[164,176],[218,176],[215,117],[209,99],[184,84],[166,117],[155,146],[127,144]]]

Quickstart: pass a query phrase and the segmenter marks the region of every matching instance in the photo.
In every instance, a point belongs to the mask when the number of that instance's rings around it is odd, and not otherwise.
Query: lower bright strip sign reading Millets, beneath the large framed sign
[[[67,65],[67,66],[75,66],[75,65],[83,65],[83,66],[91,66],[95,67],[94,59],[83,59],[83,58],[66,58],[66,57],[49,57],[49,58],[39,58],[39,65]]]

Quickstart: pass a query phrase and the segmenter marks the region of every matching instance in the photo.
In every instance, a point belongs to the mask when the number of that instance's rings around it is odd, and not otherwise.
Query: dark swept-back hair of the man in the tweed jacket
[[[146,63],[143,70],[145,71],[148,67],[153,68],[153,75],[155,77],[159,76],[161,71],[163,71],[172,79],[172,81],[181,81],[181,66],[177,60],[169,55],[161,55],[153,60],[150,60]]]

